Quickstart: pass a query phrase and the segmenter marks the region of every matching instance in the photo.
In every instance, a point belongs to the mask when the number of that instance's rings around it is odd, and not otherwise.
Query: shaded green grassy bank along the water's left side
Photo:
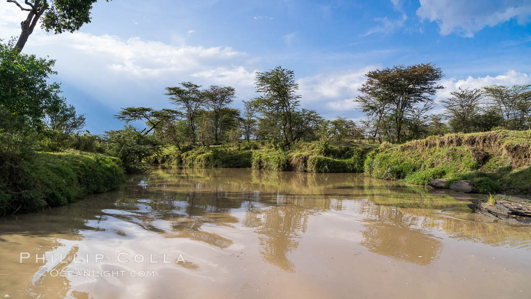
[[[63,206],[125,181],[117,158],[96,153],[36,152],[8,164],[2,168],[0,216]]]

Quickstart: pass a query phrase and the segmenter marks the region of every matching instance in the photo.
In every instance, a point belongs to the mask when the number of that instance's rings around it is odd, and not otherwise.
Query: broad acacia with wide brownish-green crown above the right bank
[[[359,91],[390,109],[397,142],[402,139],[408,110],[420,103],[433,102],[431,97],[443,89],[437,84],[444,76],[442,70],[432,63],[397,65],[365,76],[367,80]],[[355,101],[362,102],[360,97]]]

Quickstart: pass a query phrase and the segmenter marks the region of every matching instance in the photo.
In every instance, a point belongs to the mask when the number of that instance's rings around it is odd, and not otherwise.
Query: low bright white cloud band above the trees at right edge
[[[531,74],[519,73],[514,70],[510,70],[504,74],[497,76],[484,76],[474,78],[468,76],[466,79],[456,79],[450,78],[441,81],[441,85],[444,86],[443,90],[440,90],[436,97],[436,101],[446,100],[451,97],[450,93],[456,91],[459,88],[466,89],[475,89],[483,88],[490,85],[503,85],[503,86],[513,86],[513,85],[522,85],[522,84],[531,84]]]

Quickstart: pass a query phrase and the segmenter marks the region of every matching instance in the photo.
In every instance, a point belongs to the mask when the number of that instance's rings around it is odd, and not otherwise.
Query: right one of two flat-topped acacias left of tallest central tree
[[[236,91],[233,87],[210,86],[203,90],[205,106],[212,109],[212,125],[214,144],[219,144],[219,122],[221,110],[227,108],[233,102]]]

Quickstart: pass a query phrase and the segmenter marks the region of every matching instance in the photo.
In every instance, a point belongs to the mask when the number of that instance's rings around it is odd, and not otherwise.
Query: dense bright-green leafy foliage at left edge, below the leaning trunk
[[[55,75],[54,60],[19,53],[12,44],[0,42],[0,127],[52,130],[72,133],[84,125],[84,117],[66,104]]]

